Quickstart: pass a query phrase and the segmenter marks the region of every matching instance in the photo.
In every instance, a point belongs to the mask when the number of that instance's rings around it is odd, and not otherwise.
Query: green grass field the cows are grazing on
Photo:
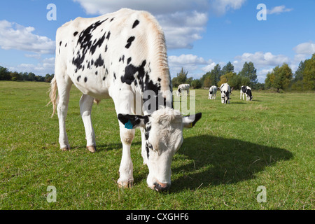
[[[50,118],[48,83],[0,82],[0,209],[314,209],[315,94],[253,92],[230,104],[196,90],[202,119],[183,132],[168,193],[148,188],[139,130],[132,144],[134,188],[116,181],[121,158],[111,99],[92,109],[97,153],[85,149],[80,92],[73,86],[66,130],[71,151],[59,150]],[[48,186],[56,202],[46,200]],[[259,203],[258,186],[266,202]]]

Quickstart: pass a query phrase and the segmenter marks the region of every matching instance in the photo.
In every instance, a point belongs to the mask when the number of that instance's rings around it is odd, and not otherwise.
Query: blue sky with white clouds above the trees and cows
[[[57,20],[47,20],[54,3]],[[267,20],[258,20],[259,3]],[[167,40],[172,77],[181,67],[200,78],[215,64],[240,71],[253,62],[258,81],[286,62],[297,69],[315,52],[314,0],[11,0],[0,7],[0,66],[10,71],[54,73],[55,32],[78,16],[95,17],[120,8],[148,10]]]

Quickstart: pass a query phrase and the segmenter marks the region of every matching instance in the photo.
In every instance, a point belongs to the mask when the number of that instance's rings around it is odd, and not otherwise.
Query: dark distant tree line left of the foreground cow
[[[32,72],[18,72],[9,71],[6,67],[0,66],[0,80],[12,80],[12,81],[36,81],[50,83],[50,80],[54,78],[54,74],[47,73],[45,76],[36,76]]]

